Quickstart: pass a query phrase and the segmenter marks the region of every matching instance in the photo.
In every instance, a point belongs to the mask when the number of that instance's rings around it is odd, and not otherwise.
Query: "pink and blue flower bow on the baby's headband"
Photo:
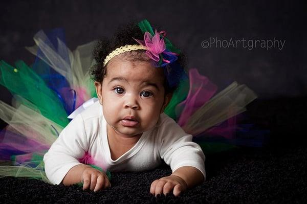
[[[151,29],[151,33],[153,33],[152,29]],[[165,44],[165,41],[164,41],[164,37],[166,35],[165,31],[158,32],[156,29],[154,36],[152,36],[151,33],[148,31],[145,31],[144,40],[135,39],[135,38],[134,39],[137,42],[139,42],[142,46],[146,47],[146,55],[156,62],[154,65],[155,66],[165,66],[168,63],[176,61],[177,56],[179,54],[176,52],[171,52],[168,49],[168,47],[172,45],[169,42],[169,40],[167,40],[167,42],[169,43]]]

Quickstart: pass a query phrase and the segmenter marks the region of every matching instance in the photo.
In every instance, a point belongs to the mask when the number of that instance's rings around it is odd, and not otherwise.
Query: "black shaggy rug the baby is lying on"
[[[0,179],[1,203],[307,203],[307,98],[256,100],[247,107],[259,129],[269,129],[262,148],[206,155],[207,180],[179,197],[149,193],[153,180],[171,174],[165,164],[146,172],[112,173],[100,192],[40,180]]]

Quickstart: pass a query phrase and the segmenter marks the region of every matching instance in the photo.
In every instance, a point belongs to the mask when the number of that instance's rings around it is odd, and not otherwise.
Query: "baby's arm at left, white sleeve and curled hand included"
[[[86,134],[89,129],[81,115],[75,117],[60,133],[56,141],[51,145],[49,151],[44,155],[43,161],[45,163],[45,172],[53,184],[71,185],[84,182],[83,189],[89,188],[91,190],[99,190],[109,184],[107,176],[91,166],[81,164],[78,158],[84,156],[85,151],[89,150],[89,135]],[[94,125],[95,126],[95,125]],[[95,129],[95,128],[94,128]],[[100,178],[102,177],[102,178]],[[95,184],[95,185],[94,185]],[[99,186],[100,185],[100,186]]]

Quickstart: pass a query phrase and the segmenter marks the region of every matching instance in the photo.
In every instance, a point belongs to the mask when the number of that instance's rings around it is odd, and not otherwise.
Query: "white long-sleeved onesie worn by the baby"
[[[206,179],[205,155],[192,142],[192,135],[166,114],[158,123],[143,132],[139,141],[117,160],[112,160],[106,133],[106,121],[99,101],[77,115],[60,133],[44,155],[45,172],[53,184],[60,184],[68,171],[81,164],[87,152],[94,165],[116,171],[146,171],[158,167],[162,160],[174,172],[182,166],[199,169]]]

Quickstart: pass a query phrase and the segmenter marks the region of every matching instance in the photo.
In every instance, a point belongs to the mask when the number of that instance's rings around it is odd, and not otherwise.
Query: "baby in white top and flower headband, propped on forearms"
[[[145,171],[162,160],[172,174],[154,180],[151,194],[178,196],[205,181],[201,147],[164,114],[176,89],[170,78],[177,77],[166,67],[182,56],[165,49],[165,32],[149,33],[131,24],[97,44],[91,73],[99,101],[77,115],[43,157],[53,184],[83,183],[83,190],[99,191],[111,187],[106,170]],[[84,155],[87,164],[80,162]]]

